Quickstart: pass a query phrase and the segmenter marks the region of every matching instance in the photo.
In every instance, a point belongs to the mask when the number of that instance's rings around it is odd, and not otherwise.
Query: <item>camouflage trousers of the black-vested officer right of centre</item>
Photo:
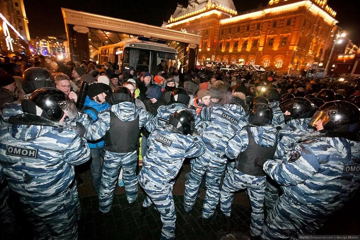
[[[247,175],[237,169],[233,169],[230,175],[225,177],[224,183],[222,184],[220,208],[228,217],[231,213],[234,192],[247,188],[252,209],[250,223],[252,236],[260,236],[261,228],[264,224],[265,185],[266,177]]]

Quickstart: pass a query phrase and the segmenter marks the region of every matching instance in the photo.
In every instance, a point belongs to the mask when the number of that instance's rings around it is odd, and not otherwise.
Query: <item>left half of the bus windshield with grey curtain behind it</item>
[[[125,48],[123,66],[131,65],[137,72],[148,72],[149,61],[149,50]]]

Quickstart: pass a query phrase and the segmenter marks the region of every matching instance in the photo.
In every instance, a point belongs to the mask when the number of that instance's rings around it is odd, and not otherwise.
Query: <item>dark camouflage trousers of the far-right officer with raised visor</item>
[[[332,205],[337,208],[338,203]],[[324,225],[332,212],[317,205],[297,204],[282,195],[266,218],[261,239],[298,239],[297,234],[314,234]]]

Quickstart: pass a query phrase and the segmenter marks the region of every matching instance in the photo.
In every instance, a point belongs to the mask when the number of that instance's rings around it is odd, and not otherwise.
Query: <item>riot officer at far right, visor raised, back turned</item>
[[[265,162],[264,171],[282,185],[284,194],[267,216],[262,239],[314,234],[350,199],[359,187],[359,154],[354,147],[359,143],[359,119],[360,110],[352,103],[328,102],[309,123],[318,131],[302,139],[283,162]]]

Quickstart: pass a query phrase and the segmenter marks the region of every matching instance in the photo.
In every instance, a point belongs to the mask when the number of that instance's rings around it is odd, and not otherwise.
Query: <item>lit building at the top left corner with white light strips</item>
[[[23,0],[0,1],[2,54],[28,51],[30,34]]]

